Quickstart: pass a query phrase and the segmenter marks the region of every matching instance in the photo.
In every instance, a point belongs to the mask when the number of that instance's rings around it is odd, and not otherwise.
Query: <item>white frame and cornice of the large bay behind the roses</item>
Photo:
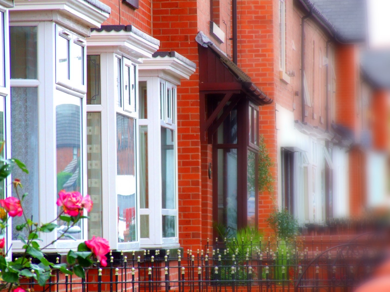
[[[0,1],[0,4],[3,1]],[[50,5],[51,11],[47,12]],[[0,7],[1,10],[1,7]],[[57,216],[57,133],[56,122],[59,113],[58,106],[66,104],[74,108],[73,113],[77,116],[80,142],[77,149],[69,148],[71,157],[80,160],[80,169],[78,178],[82,178],[78,188],[83,195],[87,193],[86,187],[86,49],[85,37],[89,36],[91,27],[99,27],[100,24],[108,17],[105,12],[92,7],[87,2],[81,0],[74,1],[14,1],[14,7],[9,9],[9,26],[33,26],[37,31],[37,74],[36,79],[11,79],[6,66],[6,84],[7,89],[4,93],[9,92],[11,88],[36,88],[37,91],[37,132],[38,141],[38,195],[39,195],[39,212],[36,221],[40,223],[50,222]],[[8,21],[8,19],[7,19]],[[5,29],[8,36],[8,27]],[[69,72],[64,77],[59,72],[59,38],[66,37],[69,41],[67,47]],[[64,38],[63,38],[64,39]],[[8,42],[8,40],[7,40]],[[5,46],[7,50],[9,46]],[[9,62],[9,53],[6,51],[6,63]],[[35,76],[34,76],[35,77]],[[3,93],[0,88],[0,94]],[[5,100],[5,109],[11,113],[9,94]],[[9,115],[8,115],[9,116]],[[10,123],[6,121],[8,132]],[[11,141],[11,134],[7,137],[7,143]],[[7,156],[11,157],[11,147],[7,147]],[[57,158],[56,158],[57,157]],[[66,162],[64,162],[66,163]],[[65,165],[66,166],[66,165]],[[69,165],[67,165],[69,166]],[[60,168],[62,170],[62,168]],[[73,172],[75,173],[75,172]],[[10,181],[12,181],[12,177]],[[69,180],[68,180],[69,182]],[[11,188],[7,188],[7,196],[11,196]],[[7,237],[11,243],[12,228],[9,228]],[[75,248],[78,243],[87,239],[87,222],[80,224],[80,232],[76,234],[76,241],[69,238],[57,241],[54,245],[48,246],[46,252],[66,252],[69,248]],[[51,243],[59,230],[49,234],[41,234],[43,239],[41,246]],[[20,252],[23,244],[20,240],[12,240],[12,251]]]

